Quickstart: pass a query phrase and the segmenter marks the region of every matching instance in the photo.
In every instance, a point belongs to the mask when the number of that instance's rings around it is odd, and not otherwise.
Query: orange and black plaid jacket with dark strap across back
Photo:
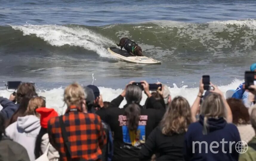
[[[75,106],[70,106],[63,115],[68,141],[70,142],[71,158],[86,160],[101,160],[101,148],[107,139],[102,128],[101,119],[92,113],[83,113]],[[53,117],[48,122],[50,143],[58,150],[60,160],[67,161],[68,150],[65,148],[59,117]]]

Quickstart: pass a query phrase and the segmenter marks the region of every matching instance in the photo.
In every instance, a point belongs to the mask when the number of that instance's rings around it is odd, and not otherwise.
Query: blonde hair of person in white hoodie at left
[[[33,97],[29,100],[26,115],[36,115],[40,117],[40,114],[36,112],[39,107],[45,107],[45,100],[42,97]]]

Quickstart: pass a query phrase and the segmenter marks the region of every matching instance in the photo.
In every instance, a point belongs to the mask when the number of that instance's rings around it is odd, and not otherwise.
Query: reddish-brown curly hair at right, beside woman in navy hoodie
[[[227,99],[229,107],[232,111],[233,115],[233,123],[240,124],[240,123],[249,123],[250,116],[248,109],[244,106],[242,100],[238,100],[235,98]]]

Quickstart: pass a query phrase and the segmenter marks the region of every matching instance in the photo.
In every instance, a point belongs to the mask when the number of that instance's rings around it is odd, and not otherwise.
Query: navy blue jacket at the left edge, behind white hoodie
[[[19,104],[15,104],[13,101],[3,97],[0,97],[0,104],[3,107],[3,109],[0,111],[0,114],[4,117],[5,120],[10,119],[14,112],[16,112],[19,108]]]

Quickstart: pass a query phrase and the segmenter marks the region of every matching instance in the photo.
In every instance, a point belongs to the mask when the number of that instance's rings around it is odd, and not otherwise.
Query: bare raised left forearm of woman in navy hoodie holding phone
[[[197,111],[198,111],[198,108],[199,108],[199,105],[200,105],[200,100],[203,96],[203,82],[202,82],[202,78],[200,80],[200,83],[199,83],[199,92],[198,92],[198,95],[195,99],[195,102],[193,103],[192,107],[191,107],[191,116],[192,116],[192,121],[193,122],[196,122],[196,114],[197,114]]]

